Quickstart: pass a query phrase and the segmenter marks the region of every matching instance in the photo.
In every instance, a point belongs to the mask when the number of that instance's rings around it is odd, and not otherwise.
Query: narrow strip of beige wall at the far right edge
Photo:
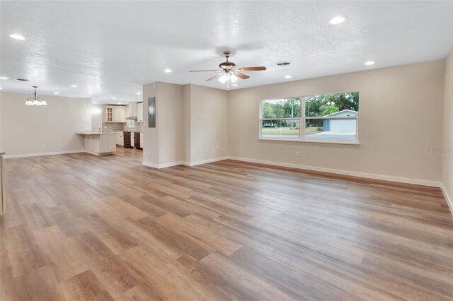
[[[453,49],[445,61],[444,143],[442,184],[453,213]]]

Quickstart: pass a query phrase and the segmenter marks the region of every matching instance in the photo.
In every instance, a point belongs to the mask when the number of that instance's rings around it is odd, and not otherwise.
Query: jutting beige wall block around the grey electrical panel
[[[226,91],[171,83],[149,83],[143,91],[144,107],[156,96],[157,108],[157,128],[144,122],[145,165],[194,165],[228,156]]]

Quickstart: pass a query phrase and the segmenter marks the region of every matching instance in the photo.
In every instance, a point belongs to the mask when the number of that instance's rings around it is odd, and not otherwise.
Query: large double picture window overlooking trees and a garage
[[[357,142],[359,93],[263,100],[260,138],[311,142]]]

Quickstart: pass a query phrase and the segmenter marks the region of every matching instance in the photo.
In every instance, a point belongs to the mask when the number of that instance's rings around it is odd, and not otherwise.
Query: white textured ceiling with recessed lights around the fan
[[[453,45],[453,1],[1,1],[0,13],[2,91],[103,103],[141,100],[154,81],[226,89],[188,73],[217,68],[224,50],[268,67],[246,72],[246,88],[442,59]]]

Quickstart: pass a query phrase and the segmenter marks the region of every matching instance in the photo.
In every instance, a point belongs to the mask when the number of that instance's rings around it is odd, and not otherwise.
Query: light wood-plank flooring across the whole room
[[[141,161],[5,160],[1,301],[453,300],[440,189]]]

